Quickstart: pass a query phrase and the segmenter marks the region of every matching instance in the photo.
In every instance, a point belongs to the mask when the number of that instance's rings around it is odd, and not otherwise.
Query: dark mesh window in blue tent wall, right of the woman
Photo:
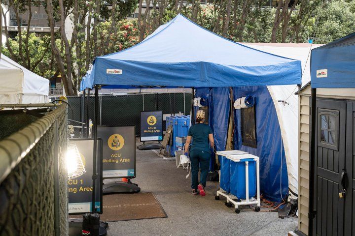
[[[242,144],[257,148],[255,106],[241,109]]]

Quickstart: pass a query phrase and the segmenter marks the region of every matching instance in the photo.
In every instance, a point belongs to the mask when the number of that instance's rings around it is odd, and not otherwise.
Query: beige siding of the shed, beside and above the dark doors
[[[298,229],[308,235],[310,99],[311,87],[299,92],[298,139]],[[317,89],[317,97],[355,99],[355,89]]]

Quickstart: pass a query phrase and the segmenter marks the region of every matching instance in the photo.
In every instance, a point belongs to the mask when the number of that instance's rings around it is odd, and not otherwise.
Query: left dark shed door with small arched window
[[[346,101],[317,99],[317,149],[314,230],[317,236],[344,235],[344,198],[341,174],[345,171]]]

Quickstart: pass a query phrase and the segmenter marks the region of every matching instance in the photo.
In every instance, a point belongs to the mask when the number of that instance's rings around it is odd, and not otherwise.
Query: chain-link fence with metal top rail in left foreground
[[[36,112],[36,110],[31,110]],[[11,125],[0,141],[0,236],[68,236],[68,189],[64,153],[67,108],[43,117],[0,113]]]

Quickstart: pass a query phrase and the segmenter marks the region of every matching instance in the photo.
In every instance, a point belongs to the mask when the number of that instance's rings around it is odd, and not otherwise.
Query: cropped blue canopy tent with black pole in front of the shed
[[[335,40],[311,52],[311,104],[317,102],[318,88],[355,88],[355,32]],[[316,157],[316,129],[317,106],[311,106],[311,150],[310,150],[310,176],[309,176],[309,236],[313,233],[313,222],[316,217],[314,209],[314,185]],[[348,131],[347,131],[348,132]],[[351,200],[348,200],[351,201]]]

